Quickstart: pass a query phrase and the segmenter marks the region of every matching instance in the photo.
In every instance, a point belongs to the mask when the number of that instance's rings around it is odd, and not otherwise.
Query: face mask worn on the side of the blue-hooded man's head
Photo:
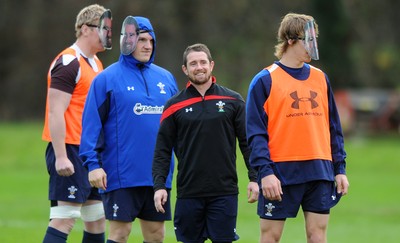
[[[130,55],[136,49],[139,38],[139,26],[133,16],[128,16],[122,23],[120,50],[122,55]]]

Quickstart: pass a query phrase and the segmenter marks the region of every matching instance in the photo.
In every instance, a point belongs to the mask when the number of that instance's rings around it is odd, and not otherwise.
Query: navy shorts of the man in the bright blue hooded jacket
[[[133,222],[136,218],[148,221],[171,220],[170,190],[164,205],[165,213],[154,206],[153,187],[121,188],[101,194],[106,219]]]

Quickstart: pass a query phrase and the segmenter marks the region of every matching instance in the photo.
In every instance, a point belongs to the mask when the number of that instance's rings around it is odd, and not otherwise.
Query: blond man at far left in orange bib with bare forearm
[[[83,105],[93,78],[103,70],[96,54],[111,48],[111,11],[94,4],[76,17],[76,42],[52,62],[48,77],[42,139],[48,142],[50,222],[44,243],[66,242],[77,218],[82,242],[104,242],[101,197],[79,158]]]

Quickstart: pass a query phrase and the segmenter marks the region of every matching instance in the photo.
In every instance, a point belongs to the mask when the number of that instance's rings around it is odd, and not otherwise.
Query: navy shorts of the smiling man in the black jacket
[[[199,243],[235,241],[238,195],[178,198],[175,205],[174,226],[178,241]]]

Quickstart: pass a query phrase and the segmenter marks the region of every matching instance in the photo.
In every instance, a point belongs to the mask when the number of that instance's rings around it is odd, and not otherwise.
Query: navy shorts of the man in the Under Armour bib
[[[304,212],[329,214],[330,209],[341,197],[341,194],[336,192],[333,181],[320,180],[282,186],[282,190],[281,202],[266,199],[260,190],[257,209],[260,218],[273,220],[295,218],[300,206]]]

